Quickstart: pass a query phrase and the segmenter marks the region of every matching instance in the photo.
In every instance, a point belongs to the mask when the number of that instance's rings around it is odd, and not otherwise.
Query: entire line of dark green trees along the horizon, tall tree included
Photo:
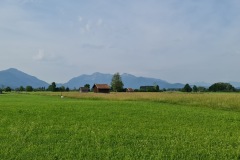
[[[89,91],[90,89],[90,84],[85,84],[85,88],[88,88]],[[11,91],[26,91],[26,92],[33,92],[33,91],[52,91],[52,92],[68,92],[70,89],[68,87],[57,87],[55,82],[52,82],[48,88],[45,87],[39,87],[39,88],[33,88],[32,86],[20,86],[19,88],[12,89],[11,87],[4,87],[0,88],[0,93],[2,91],[5,92],[11,92]],[[73,89],[74,91],[79,90],[77,88]],[[113,92],[126,92],[126,88],[124,88],[124,83],[122,81],[122,78],[120,74],[117,72],[113,75],[112,80],[111,80],[111,90]],[[178,88],[178,89],[160,89],[160,86],[157,84],[154,84],[153,86],[142,86],[140,89],[135,89],[135,92],[164,92],[164,91],[182,91],[182,92],[237,92],[240,91],[239,89],[236,89],[233,87],[230,83],[214,83],[210,87],[201,87],[201,86],[196,86],[193,85],[192,87],[189,84],[186,84],[183,88]]]

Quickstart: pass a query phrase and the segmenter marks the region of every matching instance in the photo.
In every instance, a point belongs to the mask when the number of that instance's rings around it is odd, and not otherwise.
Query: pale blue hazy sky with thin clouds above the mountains
[[[0,0],[0,70],[240,81],[240,0]]]

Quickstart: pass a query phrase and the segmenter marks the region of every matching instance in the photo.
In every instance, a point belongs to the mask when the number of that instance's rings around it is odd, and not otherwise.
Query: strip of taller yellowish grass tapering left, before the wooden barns
[[[38,93],[39,94],[39,93]],[[41,93],[43,95],[60,95],[61,93]],[[92,100],[115,101],[155,101],[160,103],[210,107],[216,109],[240,111],[240,93],[182,93],[182,92],[135,92],[135,93],[78,93],[63,92],[65,97]]]

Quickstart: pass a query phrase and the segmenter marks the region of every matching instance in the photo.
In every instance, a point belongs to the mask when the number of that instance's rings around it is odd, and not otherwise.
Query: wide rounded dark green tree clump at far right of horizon
[[[211,92],[235,92],[236,89],[230,83],[214,83],[208,89]]]

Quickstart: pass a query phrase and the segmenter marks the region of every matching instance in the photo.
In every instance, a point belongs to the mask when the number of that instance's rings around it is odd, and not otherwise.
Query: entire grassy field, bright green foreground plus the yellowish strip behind
[[[0,159],[240,159],[238,93],[0,95]]]

